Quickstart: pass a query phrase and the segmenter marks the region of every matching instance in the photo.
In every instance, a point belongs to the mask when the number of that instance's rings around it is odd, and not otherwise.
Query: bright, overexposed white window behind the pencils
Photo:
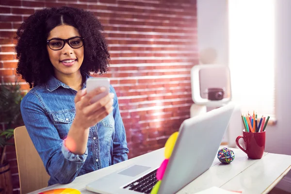
[[[229,0],[232,100],[275,119],[275,1]]]

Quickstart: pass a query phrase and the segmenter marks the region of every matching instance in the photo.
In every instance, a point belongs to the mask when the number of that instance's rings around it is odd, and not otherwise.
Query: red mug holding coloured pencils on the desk
[[[240,138],[243,138],[245,149],[243,149],[242,146],[239,144]],[[237,146],[239,146],[239,148],[241,148],[241,150],[244,151],[250,159],[262,158],[265,150],[265,141],[265,131],[252,133],[245,132],[245,130],[243,130],[242,135],[238,136],[235,140]]]

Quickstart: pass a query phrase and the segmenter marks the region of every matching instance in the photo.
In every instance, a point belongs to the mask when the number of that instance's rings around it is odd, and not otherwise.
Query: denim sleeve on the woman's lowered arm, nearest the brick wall
[[[119,112],[118,100],[114,88],[112,87],[114,93],[113,98],[113,117],[114,117],[114,139],[113,139],[113,156],[112,164],[122,162],[128,159],[129,148],[126,141],[126,133],[124,124]]]

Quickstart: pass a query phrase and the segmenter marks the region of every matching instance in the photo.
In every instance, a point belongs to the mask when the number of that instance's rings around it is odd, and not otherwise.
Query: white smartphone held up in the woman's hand
[[[98,87],[105,87],[105,92],[96,95],[91,99],[91,103],[97,102],[102,97],[109,94],[110,79],[109,78],[88,78],[86,81],[87,94]]]

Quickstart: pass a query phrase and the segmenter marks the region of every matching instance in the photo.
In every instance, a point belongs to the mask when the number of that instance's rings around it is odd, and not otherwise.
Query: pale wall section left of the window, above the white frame
[[[226,0],[197,0],[197,35],[201,64],[228,64]]]

